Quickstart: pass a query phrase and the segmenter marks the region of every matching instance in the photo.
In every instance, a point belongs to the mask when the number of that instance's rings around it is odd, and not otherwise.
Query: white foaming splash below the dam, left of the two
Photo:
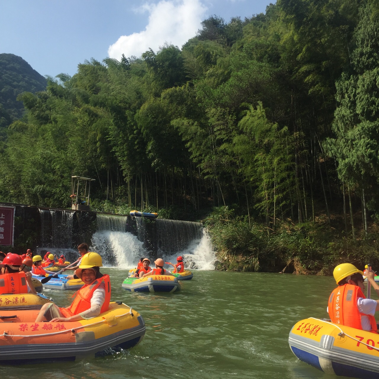
[[[148,255],[143,242],[132,233],[102,230],[92,235],[91,251],[103,257],[105,266],[113,266],[112,256],[116,258],[117,268],[135,267],[141,257]]]

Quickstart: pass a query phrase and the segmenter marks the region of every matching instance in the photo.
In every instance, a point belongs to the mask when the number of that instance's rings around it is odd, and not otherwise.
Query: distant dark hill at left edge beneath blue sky
[[[45,88],[46,79],[20,56],[0,54],[0,127],[8,126],[23,115],[24,107],[16,100],[20,93]]]

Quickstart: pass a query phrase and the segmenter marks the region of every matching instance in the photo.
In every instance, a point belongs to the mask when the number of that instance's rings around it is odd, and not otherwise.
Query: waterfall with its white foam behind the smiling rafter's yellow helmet
[[[130,268],[147,256],[143,242],[126,229],[126,216],[97,215],[97,232],[92,235],[90,249],[102,256],[105,265]]]

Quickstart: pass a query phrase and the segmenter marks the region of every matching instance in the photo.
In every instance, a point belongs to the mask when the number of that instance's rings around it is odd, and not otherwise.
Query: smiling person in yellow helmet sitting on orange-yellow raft
[[[44,304],[36,322],[78,321],[106,312],[111,297],[111,284],[109,276],[100,273],[99,267],[102,267],[100,255],[95,252],[86,254],[77,269],[78,276],[85,284],[76,292],[72,304],[67,308],[59,308],[52,303]]]

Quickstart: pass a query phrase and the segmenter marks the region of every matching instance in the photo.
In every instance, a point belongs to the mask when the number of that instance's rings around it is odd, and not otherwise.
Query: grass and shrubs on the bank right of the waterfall
[[[235,216],[229,208],[215,208],[204,224],[221,263],[217,269],[331,275],[336,265],[350,262],[359,268],[370,262],[379,268],[379,233],[372,224],[365,238],[346,234],[342,218],[294,224],[277,221],[270,230]],[[362,231],[363,232],[363,231]],[[359,235],[359,231],[357,233]]]

